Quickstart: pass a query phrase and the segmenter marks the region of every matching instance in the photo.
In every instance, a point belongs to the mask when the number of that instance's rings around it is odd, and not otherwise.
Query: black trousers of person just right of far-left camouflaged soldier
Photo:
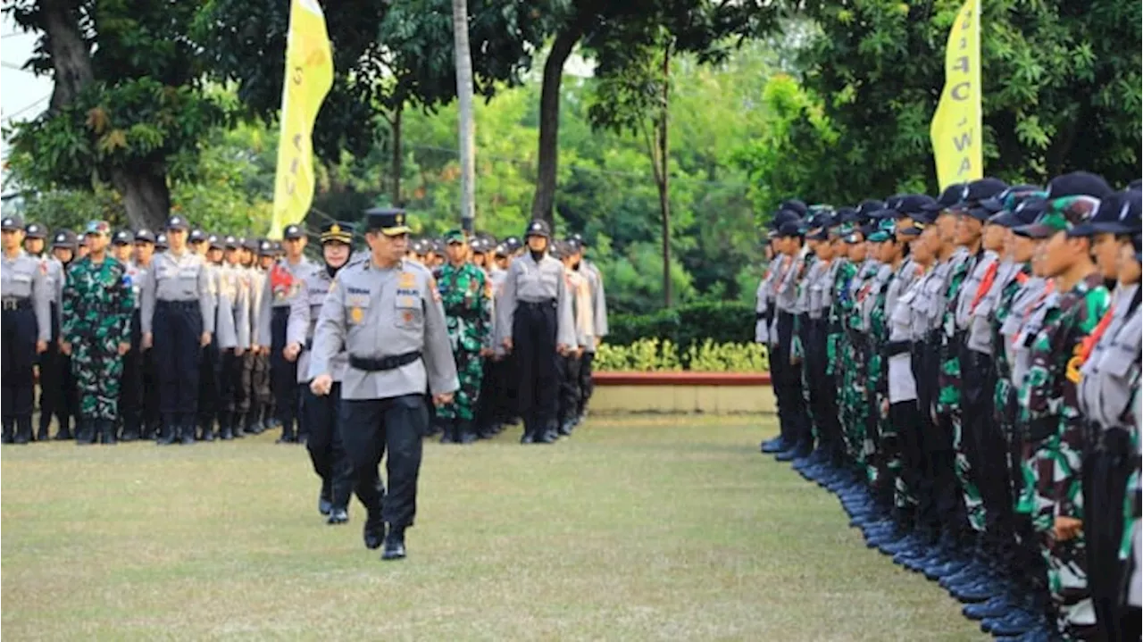
[[[159,371],[159,411],[175,426],[198,418],[202,314],[198,302],[160,300],[152,323]]]

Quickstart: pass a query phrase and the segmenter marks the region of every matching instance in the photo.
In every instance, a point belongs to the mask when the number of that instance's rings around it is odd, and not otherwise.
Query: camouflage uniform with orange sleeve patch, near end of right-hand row
[[[1084,517],[1080,479],[1084,423],[1077,401],[1082,339],[1110,305],[1098,274],[1092,274],[1056,299],[1032,345],[1032,363],[1020,391],[1025,431],[1024,491],[1017,511],[1030,514],[1048,563],[1053,597],[1063,605],[1087,596],[1082,533],[1056,540],[1057,516]]]

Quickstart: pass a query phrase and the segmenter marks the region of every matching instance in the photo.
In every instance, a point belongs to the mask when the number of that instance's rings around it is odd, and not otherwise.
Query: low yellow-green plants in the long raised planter
[[[593,361],[601,372],[766,372],[766,346],[706,339],[681,352],[670,339],[642,338],[630,345],[604,344]]]

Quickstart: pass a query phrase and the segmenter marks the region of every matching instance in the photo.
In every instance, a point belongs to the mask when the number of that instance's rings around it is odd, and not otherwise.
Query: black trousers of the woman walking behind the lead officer
[[[313,472],[321,478],[322,488],[329,488],[329,500],[334,507],[347,508],[353,490],[353,464],[345,452],[337,425],[341,399],[342,385],[338,383],[325,396],[318,396],[306,387],[302,392],[302,412],[310,428],[305,448],[310,451]],[[361,504],[369,507],[365,499]]]

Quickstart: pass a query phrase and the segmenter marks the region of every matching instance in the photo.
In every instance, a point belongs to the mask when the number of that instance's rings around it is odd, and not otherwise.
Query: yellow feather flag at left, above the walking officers
[[[334,85],[333,48],[318,0],[291,0],[271,239],[301,223],[313,202],[313,121]]]

